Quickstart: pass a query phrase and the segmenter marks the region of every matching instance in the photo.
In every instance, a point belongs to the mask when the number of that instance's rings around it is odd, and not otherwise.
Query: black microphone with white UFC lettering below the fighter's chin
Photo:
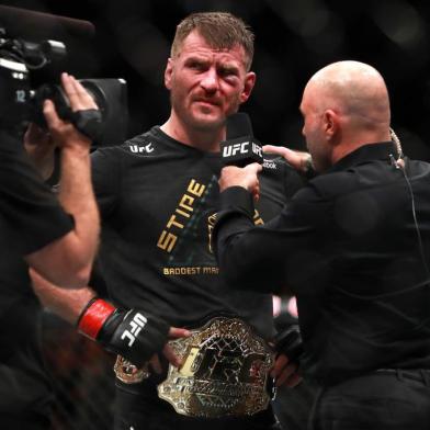
[[[252,125],[248,114],[234,113],[227,117],[227,135],[223,140],[220,154],[226,166],[245,167],[251,162],[263,162],[263,147],[253,137]]]

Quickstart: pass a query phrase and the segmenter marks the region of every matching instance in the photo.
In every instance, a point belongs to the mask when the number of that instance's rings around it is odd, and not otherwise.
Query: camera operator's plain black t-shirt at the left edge
[[[72,226],[22,144],[0,132],[0,415],[48,414],[52,395],[39,351],[41,306],[22,256]]]

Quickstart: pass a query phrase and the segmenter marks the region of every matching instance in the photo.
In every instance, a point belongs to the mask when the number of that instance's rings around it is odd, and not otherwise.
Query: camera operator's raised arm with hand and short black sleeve
[[[97,109],[75,78],[64,73],[61,81],[72,111]],[[61,148],[58,201],[63,210],[34,172],[22,145],[3,132],[0,144],[2,230],[9,230],[7,237],[13,240],[16,252],[45,278],[64,286],[83,286],[99,237],[99,214],[90,178],[90,139],[71,123],[61,121],[49,100],[45,101],[44,114],[53,140]]]

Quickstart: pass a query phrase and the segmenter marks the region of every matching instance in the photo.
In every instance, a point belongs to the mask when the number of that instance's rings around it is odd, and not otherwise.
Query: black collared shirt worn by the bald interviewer
[[[230,285],[297,296],[304,372],[325,384],[430,369],[430,166],[362,146],[264,226],[241,188],[222,193],[214,241]]]

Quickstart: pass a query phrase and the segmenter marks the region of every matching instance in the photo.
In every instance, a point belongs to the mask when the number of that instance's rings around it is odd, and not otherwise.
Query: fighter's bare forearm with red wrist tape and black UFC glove
[[[140,366],[155,353],[163,351],[176,366],[180,365],[173,350],[166,346],[168,336],[190,336],[185,329],[170,328],[158,317],[139,309],[117,308],[90,287],[64,290],[30,270],[33,288],[42,304],[77,326],[80,333],[100,343],[106,351],[122,355]]]

